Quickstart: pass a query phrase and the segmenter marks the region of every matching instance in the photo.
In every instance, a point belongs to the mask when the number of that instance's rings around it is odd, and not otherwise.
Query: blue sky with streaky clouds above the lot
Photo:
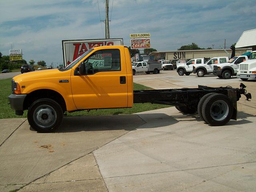
[[[99,6],[98,6],[99,5]],[[177,50],[195,42],[214,49],[256,28],[255,0],[109,0],[110,38],[150,33],[151,48]],[[0,52],[63,62],[62,40],[105,38],[105,0],[1,0]]]

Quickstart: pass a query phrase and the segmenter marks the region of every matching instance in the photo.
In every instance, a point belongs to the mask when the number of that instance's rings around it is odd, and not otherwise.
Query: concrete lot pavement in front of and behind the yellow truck
[[[155,89],[239,87],[240,79],[136,74]],[[56,133],[26,119],[0,120],[0,191],[253,191],[256,188],[255,80],[238,120],[212,127],[174,107],[134,115],[66,117]]]

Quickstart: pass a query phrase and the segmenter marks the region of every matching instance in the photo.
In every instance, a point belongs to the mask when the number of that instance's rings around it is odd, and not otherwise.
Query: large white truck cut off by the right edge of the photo
[[[239,64],[236,77],[243,81],[256,79],[256,51],[252,51],[249,60]]]

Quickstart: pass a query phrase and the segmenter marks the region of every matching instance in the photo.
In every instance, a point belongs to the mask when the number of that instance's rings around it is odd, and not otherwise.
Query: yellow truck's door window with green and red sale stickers
[[[121,57],[119,49],[104,49],[94,52],[84,60],[86,74],[104,71],[120,71]]]

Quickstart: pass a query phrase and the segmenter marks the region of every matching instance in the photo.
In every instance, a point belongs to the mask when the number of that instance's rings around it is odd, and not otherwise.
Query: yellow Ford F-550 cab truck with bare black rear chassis
[[[220,87],[133,91],[132,63],[126,46],[91,48],[60,69],[20,74],[12,79],[9,101],[17,115],[28,110],[28,122],[38,132],[52,132],[65,112],[130,108],[133,103],[169,104],[183,113],[198,112],[208,124],[221,126],[236,119],[241,88]]]

